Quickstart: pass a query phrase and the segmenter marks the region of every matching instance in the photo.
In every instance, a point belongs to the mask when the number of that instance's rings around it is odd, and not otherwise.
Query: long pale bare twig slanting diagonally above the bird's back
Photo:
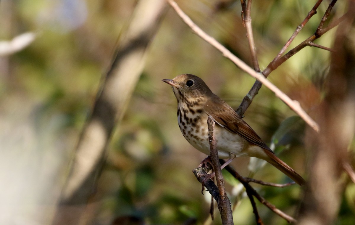
[[[261,73],[257,73],[250,66],[248,66],[244,61],[236,57],[232,54],[228,49],[226,49],[222,44],[216,41],[213,37],[209,36],[206,32],[204,32],[200,27],[198,27],[189,16],[187,16],[180,7],[173,0],[167,0],[171,7],[176,11],[176,13],[182,18],[182,20],[190,26],[190,28],[202,39],[206,42],[210,43],[213,47],[218,49],[224,57],[230,59],[235,65],[237,65],[240,69],[244,70],[246,73],[255,77],[258,81],[268,87],[271,91],[275,93],[275,95],[280,98],[282,101],[286,103],[293,111],[295,111],[305,122],[310,125],[316,132],[319,132],[318,124],[310,117],[308,114],[302,109],[299,102],[295,100],[291,100],[284,92],[282,92],[278,87],[268,81]]]

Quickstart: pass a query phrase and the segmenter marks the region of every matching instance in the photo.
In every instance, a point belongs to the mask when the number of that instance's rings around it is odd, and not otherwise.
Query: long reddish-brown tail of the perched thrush
[[[278,168],[281,172],[283,172],[285,175],[290,177],[292,180],[294,180],[297,184],[300,186],[305,185],[306,181],[298,174],[296,171],[293,170],[293,168],[289,167],[287,164],[285,164],[282,160],[280,160],[274,152],[263,149],[266,155],[268,156],[268,161],[270,164],[272,164],[274,167]]]

